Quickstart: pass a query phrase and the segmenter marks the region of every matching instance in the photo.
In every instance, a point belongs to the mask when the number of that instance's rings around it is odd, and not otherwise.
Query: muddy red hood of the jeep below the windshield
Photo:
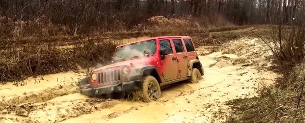
[[[152,62],[152,61],[155,61],[154,57],[142,57],[142,58],[126,60],[126,61],[116,62],[116,63],[109,64],[106,66],[102,66],[102,67],[94,69],[92,72],[102,70],[102,69],[108,69],[108,68],[112,68],[112,67],[120,67],[120,66],[128,66],[128,67],[141,66],[141,65],[148,64],[149,62]]]

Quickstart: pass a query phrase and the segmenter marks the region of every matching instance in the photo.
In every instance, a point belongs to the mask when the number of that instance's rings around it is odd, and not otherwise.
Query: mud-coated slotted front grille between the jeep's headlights
[[[97,74],[98,84],[111,84],[120,81],[120,70],[109,70]]]

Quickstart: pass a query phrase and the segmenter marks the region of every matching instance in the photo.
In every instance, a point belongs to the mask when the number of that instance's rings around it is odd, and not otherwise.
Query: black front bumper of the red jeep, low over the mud
[[[110,86],[82,89],[81,93],[88,96],[95,96],[95,95],[101,95],[101,94],[113,93],[113,92],[127,92],[132,90],[140,90],[142,88],[143,88],[142,80],[135,80],[135,81],[129,81]]]

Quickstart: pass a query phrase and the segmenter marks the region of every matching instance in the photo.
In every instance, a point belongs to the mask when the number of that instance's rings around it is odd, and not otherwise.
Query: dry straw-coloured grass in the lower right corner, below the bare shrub
[[[304,123],[304,93],[300,92],[305,77],[305,62],[294,67],[286,75],[288,79],[278,80],[272,88],[264,88],[260,97],[235,99],[227,102],[233,105],[228,123]],[[300,98],[301,97],[301,98]],[[300,104],[298,106],[298,104]]]

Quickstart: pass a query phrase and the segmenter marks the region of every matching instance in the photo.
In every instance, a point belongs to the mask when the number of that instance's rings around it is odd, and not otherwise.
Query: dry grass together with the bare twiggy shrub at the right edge
[[[277,25],[271,32],[268,36],[254,33],[272,50],[284,76],[274,86],[262,88],[259,97],[227,102],[233,108],[228,123],[304,123],[305,28]]]

